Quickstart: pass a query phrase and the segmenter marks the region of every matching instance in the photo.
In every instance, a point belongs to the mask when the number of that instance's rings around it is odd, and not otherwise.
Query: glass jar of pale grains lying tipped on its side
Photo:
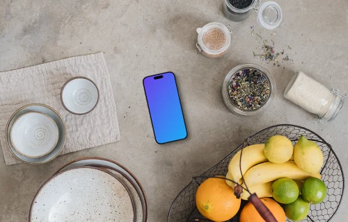
[[[329,89],[302,71],[292,77],[284,97],[316,114],[322,124],[335,119],[345,101],[345,96],[339,94],[337,89]]]

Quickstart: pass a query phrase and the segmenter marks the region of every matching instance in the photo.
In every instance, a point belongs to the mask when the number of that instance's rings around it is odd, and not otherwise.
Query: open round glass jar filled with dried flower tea
[[[267,69],[245,64],[233,68],[223,81],[222,96],[227,108],[238,114],[259,114],[269,106],[276,82]]]

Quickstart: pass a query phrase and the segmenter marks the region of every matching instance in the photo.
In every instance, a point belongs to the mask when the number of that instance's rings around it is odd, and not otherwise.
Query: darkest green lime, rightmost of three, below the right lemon
[[[322,203],[327,194],[326,185],[318,178],[307,178],[303,182],[301,194],[308,203]]]

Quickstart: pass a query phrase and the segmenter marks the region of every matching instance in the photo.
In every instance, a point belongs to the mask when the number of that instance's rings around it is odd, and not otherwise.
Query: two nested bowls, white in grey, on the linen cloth
[[[42,104],[17,110],[6,126],[6,142],[11,153],[28,164],[53,160],[65,144],[66,128],[60,114]]]

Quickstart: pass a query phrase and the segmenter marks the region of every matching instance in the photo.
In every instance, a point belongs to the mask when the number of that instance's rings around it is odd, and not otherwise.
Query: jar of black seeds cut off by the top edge
[[[249,17],[258,0],[223,0],[223,14],[230,20],[240,22]]]

